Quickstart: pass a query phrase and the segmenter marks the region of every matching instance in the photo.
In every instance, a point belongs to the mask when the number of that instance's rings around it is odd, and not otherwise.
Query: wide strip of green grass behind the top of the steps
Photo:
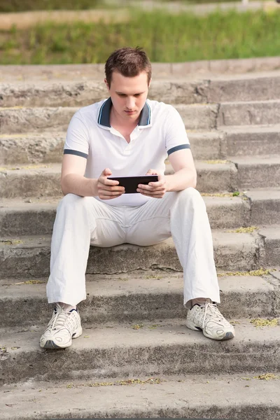
[[[125,24],[45,23],[0,31],[0,64],[100,63],[125,45],[140,45],[152,62],[280,55],[280,13],[132,16]]]

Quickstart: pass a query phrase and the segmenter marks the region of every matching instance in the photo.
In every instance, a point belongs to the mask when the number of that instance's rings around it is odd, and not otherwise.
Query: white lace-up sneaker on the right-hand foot
[[[235,337],[235,328],[223,317],[214,303],[204,306],[195,304],[188,310],[187,327],[202,331],[211,339],[230,339]]]

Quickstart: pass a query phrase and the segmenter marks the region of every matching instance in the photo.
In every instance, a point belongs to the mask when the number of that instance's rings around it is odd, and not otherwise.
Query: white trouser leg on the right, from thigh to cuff
[[[183,267],[183,303],[189,307],[197,297],[220,302],[211,229],[200,193],[186,188],[130,211],[128,242],[151,245],[172,235]]]

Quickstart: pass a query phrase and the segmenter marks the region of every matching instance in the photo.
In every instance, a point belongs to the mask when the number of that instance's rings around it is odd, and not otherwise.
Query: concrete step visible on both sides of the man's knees
[[[50,235],[61,197],[2,200],[0,237]],[[250,190],[240,197],[203,196],[212,229],[273,225],[280,217],[280,190]]]

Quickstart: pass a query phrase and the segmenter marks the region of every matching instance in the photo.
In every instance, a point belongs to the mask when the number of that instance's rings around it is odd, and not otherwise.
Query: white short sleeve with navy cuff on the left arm
[[[71,118],[64,144],[64,155],[77,155],[87,158],[90,138],[87,126],[79,113]]]

